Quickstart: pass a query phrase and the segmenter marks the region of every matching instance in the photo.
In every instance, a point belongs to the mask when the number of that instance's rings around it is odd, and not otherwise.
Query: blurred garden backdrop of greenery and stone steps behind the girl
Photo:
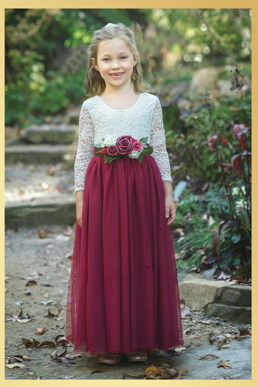
[[[87,47],[108,22],[133,30],[161,101],[179,269],[249,281],[251,9],[5,9],[7,229],[75,222]]]

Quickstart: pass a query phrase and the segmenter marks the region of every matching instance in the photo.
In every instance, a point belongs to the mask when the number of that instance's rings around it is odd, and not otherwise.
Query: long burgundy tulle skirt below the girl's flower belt
[[[75,352],[183,345],[173,238],[155,159],[94,155],[76,222],[66,339]]]

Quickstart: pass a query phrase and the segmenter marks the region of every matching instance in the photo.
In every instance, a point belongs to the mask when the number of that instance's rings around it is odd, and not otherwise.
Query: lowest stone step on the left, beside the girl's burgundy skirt
[[[39,198],[29,202],[5,204],[7,228],[31,228],[52,224],[74,224],[76,221],[75,195],[55,199]]]

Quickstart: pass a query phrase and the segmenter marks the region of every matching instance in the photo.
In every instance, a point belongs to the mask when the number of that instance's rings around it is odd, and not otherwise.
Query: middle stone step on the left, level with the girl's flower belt
[[[63,161],[64,156],[75,158],[77,145],[15,144],[5,146],[5,162],[25,164],[54,164]]]

